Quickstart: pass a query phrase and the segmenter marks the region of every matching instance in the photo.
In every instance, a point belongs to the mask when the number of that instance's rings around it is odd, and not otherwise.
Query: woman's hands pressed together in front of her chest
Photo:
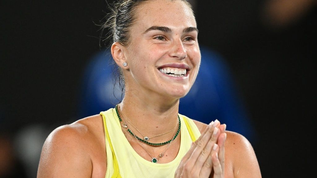
[[[211,122],[202,135],[192,143],[174,177],[206,178],[214,170],[214,178],[223,178],[225,127],[226,125],[220,125],[218,120]]]

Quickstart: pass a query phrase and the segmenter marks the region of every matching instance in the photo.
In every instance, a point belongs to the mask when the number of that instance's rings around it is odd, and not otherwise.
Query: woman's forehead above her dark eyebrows
[[[137,7],[135,18],[138,28],[196,27],[196,20],[191,8],[181,0],[147,1]]]

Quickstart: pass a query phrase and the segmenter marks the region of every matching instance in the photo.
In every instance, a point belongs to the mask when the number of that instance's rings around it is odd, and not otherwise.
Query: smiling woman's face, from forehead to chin
[[[139,5],[126,47],[127,89],[184,97],[200,65],[196,27],[191,9],[180,0]]]

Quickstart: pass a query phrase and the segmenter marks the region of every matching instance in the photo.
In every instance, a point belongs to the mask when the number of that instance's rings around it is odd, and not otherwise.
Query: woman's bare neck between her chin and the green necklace
[[[167,101],[160,96],[147,97],[136,91],[130,91],[125,93],[119,106],[124,117],[138,130],[154,136],[175,127],[178,121],[178,105],[179,99]],[[172,134],[173,132],[155,139],[171,137]]]

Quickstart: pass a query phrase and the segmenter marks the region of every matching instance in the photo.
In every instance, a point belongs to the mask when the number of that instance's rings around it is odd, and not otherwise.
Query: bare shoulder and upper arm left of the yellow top
[[[98,148],[98,115],[53,130],[42,148],[37,177],[91,177],[91,149]],[[100,120],[100,118],[99,118]]]

